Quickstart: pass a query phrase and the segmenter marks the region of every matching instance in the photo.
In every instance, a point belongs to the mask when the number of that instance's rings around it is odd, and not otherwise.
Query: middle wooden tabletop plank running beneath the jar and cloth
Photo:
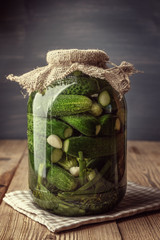
[[[19,164],[15,176],[9,186],[8,192],[15,190],[28,189],[28,175],[27,175],[28,156],[25,151],[22,162]],[[67,231],[62,234],[51,233],[46,227],[37,222],[32,221],[26,216],[19,214],[4,202],[0,208],[0,239],[23,239],[23,240],[121,240],[121,235],[117,228],[116,222],[92,224],[84,226],[73,231]]]

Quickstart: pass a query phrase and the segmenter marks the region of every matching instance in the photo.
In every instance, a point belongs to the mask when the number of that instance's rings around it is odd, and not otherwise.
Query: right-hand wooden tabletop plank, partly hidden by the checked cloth
[[[160,187],[159,156],[160,142],[129,142],[128,180],[145,186]],[[124,240],[160,239],[159,213],[145,213],[117,222]]]

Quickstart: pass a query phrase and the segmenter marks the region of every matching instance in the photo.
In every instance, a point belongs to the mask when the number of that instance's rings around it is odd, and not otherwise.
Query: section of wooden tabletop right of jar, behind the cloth
[[[160,188],[160,142],[128,143],[128,180]]]

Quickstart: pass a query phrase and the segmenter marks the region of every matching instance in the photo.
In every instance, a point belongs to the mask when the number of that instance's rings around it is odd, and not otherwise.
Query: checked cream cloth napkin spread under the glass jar
[[[34,205],[30,191],[15,191],[3,200],[18,212],[45,225],[51,232],[61,232],[91,223],[111,221],[145,211],[160,209],[160,190],[128,183],[125,198],[114,210],[96,216],[62,217]]]

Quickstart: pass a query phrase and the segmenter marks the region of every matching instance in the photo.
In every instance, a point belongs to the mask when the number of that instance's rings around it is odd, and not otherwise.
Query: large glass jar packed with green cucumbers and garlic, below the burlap
[[[29,188],[63,216],[105,213],[126,191],[126,102],[75,71],[28,100]]]

